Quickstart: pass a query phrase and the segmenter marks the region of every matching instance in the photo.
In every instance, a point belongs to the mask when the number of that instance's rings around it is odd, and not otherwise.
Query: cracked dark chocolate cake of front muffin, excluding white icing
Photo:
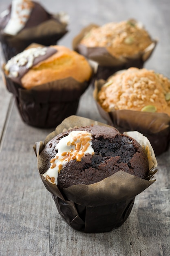
[[[149,170],[148,159],[144,149],[135,139],[121,135],[115,128],[106,126],[89,126],[77,130],[91,132],[95,154],[86,154],[81,162],[76,160],[68,162],[58,175],[59,189],[76,184],[93,184],[120,170],[146,178]],[[60,134],[46,144],[40,154],[44,162],[40,173],[45,173],[49,169],[50,159],[57,153],[55,147],[58,141],[68,133]]]

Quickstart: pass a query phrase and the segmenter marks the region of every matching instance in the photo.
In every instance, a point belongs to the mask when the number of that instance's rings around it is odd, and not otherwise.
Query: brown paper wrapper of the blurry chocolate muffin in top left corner
[[[24,51],[31,43],[45,46],[56,45],[57,41],[67,33],[66,26],[66,23],[61,23],[54,17],[38,26],[25,28],[15,36],[0,34],[0,42],[6,61]]]

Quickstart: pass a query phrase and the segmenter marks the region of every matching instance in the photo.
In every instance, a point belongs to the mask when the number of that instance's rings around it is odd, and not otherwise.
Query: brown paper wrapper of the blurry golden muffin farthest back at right
[[[73,49],[80,54],[86,56],[86,58],[95,61],[97,72],[95,73],[95,79],[107,79],[113,73],[128,69],[129,67],[142,68],[144,63],[151,56],[154,51],[157,40],[152,40],[151,45],[149,45],[144,52],[139,52],[134,56],[116,58],[109,52],[107,47],[86,47],[80,44],[82,38],[88,33],[93,27],[99,27],[96,24],[90,24],[73,39]]]

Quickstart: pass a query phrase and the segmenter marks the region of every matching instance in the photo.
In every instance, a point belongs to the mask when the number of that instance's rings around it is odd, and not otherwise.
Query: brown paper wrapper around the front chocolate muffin
[[[71,128],[89,125],[107,126],[91,119],[71,116],[64,119],[55,131],[46,137],[44,143],[37,142],[33,148],[37,156],[39,173],[43,164],[39,155],[53,137]],[[47,181],[40,173],[46,189],[52,193],[60,215],[73,229],[85,233],[99,233],[121,226],[132,210],[135,196],[155,182],[151,179],[156,173],[154,169],[157,160],[148,139],[139,132],[132,132],[130,136],[139,141],[148,155],[150,171],[148,170],[146,180],[119,171],[91,185],[74,185],[59,190],[56,184]]]

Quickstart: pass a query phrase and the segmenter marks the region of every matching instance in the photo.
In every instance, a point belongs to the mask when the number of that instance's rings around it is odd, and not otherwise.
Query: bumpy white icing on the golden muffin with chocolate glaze
[[[9,77],[17,77],[16,72],[19,70],[20,66],[25,65],[26,68],[32,67],[34,59],[38,56],[45,55],[46,51],[46,47],[35,47],[27,49],[12,57],[4,66],[4,70],[9,72]],[[13,67],[15,68],[15,70],[13,70]],[[14,71],[15,73],[13,73]]]

